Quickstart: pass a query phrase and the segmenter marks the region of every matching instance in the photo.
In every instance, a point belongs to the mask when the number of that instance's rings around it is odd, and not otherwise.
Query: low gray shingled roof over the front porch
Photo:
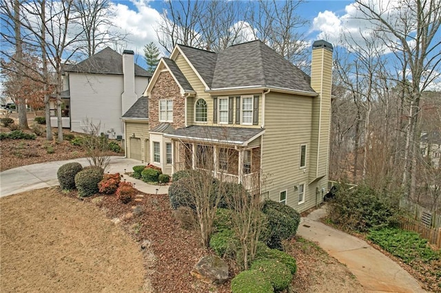
[[[264,129],[244,127],[209,127],[192,125],[176,129],[165,136],[188,140],[200,140],[206,142],[218,142],[226,144],[243,144],[260,133]]]

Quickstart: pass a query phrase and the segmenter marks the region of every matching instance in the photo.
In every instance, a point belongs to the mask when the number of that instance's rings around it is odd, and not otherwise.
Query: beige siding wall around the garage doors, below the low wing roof
[[[127,158],[131,158],[130,138],[133,134],[136,138],[141,138],[141,160],[145,163],[150,162],[149,122],[146,120],[125,122],[125,155]]]

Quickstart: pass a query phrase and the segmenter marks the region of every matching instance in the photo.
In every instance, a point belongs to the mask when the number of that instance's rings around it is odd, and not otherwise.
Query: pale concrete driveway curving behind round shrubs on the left
[[[60,166],[68,162],[79,162],[83,166],[89,166],[88,160],[81,158],[32,164],[0,172],[0,197],[22,193],[24,191],[32,191],[39,188],[58,186],[57,171]],[[110,173],[124,174],[125,171],[132,172],[132,167],[136,165],[141,165],[141,162],[123,157],[111,157],[110,164],[106,171]],[[136,180],[128,175],[123,175],[123,178],[134,183],[134,187],[143,193],[165,194],[168,192],[168,186],[146,184],[145,182]]]

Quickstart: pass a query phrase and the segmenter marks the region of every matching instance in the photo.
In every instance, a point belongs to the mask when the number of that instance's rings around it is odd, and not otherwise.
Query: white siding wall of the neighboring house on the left
[[[142,96],[147,83],[148,78],[135,78],[138,98]],[[123,122],[121,121],[123,115],[121,105],[121,94],[124,90],[123,76],[70,72],[69,84],[72,131],[83,133],[84,122],[88,118],[94,123],[101,121],[100,132],[109,134],[110,138],[124,134]],[[114,132],[107,132],[111,129]]]

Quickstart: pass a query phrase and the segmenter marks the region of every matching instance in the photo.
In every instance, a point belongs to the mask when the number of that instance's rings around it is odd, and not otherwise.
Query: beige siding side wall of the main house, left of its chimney
[[[311,114],[313,98],[271,92],[265,107],[265,134],[262,145],[262,192],[279,201],[287,191],[287,204],[303,211],[316,204],[316,184],[309,186],[311,155]],[[300,169],[300,145],[307,144],[307,167]],[[298,189],[305,184],[305,202],[298,204]],[[322,182],[320,182],[322,184]],[[324,185],[326,186],[326,184]],[[321,199],[320,199],[321,202]]]

